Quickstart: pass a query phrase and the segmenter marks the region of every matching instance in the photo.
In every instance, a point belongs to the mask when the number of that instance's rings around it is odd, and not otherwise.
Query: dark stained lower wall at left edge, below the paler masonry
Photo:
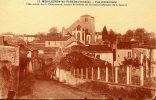
[[[6,99],[8,91],[18,91],[19,67],[10,61],[0,61],[0,99]]]

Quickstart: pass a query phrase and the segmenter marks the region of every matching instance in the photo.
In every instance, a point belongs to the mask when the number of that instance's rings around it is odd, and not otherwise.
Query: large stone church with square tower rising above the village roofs
[[[90,15],[82,15],[70,27],[62,28],[62,34],[70,34],[84,44],[95,42],[95,21]]]

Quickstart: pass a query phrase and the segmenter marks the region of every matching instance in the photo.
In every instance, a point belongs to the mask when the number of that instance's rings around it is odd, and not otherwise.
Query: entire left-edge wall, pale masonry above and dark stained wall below
[[[19,83],[19,47],[0,46],[0,99],[6,99],[8,91],[17,93]]]

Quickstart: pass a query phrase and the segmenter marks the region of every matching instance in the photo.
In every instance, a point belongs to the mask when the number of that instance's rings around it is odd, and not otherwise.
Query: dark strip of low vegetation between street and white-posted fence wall
[[[86,82],[78,85],[77,87],[84,91],[96,92],[108,96],[110,95],[115,100],[119,97],[126,100],[146,100],[153,96],[152,90],[147,88],[111,85],[97,81]]]

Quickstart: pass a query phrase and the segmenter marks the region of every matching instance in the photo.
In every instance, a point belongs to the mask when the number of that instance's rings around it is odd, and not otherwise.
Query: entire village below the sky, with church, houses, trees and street
[[[0,34],[0,99],[156,99],[156,34],[81,15],[69,27]]]

